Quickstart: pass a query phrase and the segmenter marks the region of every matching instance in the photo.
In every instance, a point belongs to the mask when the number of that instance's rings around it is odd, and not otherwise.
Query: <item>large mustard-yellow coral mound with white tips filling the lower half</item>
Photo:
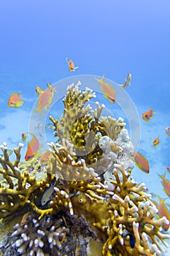
[[[131,177],[134,146],[123,118],[101,116],[98,102],[90,110],[85,103],[96,95],[79,87],[68,87],[63,116],[50,116],[56,141],[47,165],[37,157],[21,163],[22,143],[11,162],[1,145],[1,254],[162,255],[169,221]]]

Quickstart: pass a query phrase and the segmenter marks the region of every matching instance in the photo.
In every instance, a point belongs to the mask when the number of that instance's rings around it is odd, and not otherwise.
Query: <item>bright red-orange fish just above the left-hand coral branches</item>
[[[25,160],[28,161],[35,157],[39,148],[39,140],[36,138],[35,135],[33,135],[32,140],[28,143]]]

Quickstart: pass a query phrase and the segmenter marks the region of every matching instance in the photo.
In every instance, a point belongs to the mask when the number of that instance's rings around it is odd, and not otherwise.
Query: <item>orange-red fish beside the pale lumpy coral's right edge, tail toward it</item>
[[[142,154],[139,152],[134,152],[134,154],[131,155],[131,159],[133,159],[136,166],[143,170],[144,173],[150,173],[149,162]]]

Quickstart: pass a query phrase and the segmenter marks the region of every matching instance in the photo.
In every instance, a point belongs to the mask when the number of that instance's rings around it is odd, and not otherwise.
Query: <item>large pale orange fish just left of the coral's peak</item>
[[[36,108],[36,110],[34,111],[39,111],[39,115],[42,115],[42,110],[45,109],[47,110],[47,108],[50,107],[50,103],[52,102],[53,99],[53,94],[54,94],[55,87],[52,87],[42,91],[41,94],[39,94],[39,99],[38,99],[38,108]]]

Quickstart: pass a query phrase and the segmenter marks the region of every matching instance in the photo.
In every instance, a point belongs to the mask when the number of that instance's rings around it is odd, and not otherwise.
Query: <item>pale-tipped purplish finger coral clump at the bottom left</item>
[[[29,215],[24,225],[18,223],[14,226],[12,237],[15,242],[12,247],[23,256],[61,255],[60,250],[69,234],[69,228],[62,226],[62,222],[62,219],[53,221],[44,217],[39,220]]]

